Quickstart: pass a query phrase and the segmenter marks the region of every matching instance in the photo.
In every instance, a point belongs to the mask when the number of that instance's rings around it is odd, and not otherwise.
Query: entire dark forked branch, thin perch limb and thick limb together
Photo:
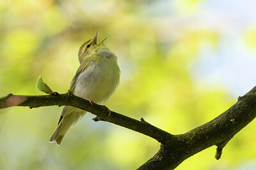
[[[106,106],[95,103],[92,106],[90,101],[69,93],[50,96],[9,94],[0,98],[0,108],[11,106],[38,108],[54,105],[74,106],[96,115],[97,117],[93,119],[95,121],[110,122],[156,139],[161,143],[159,151],[138,169],[175,169],[195,153],[213,145],[218,146],[215,157],[220,159],[222,150],[228,141],[256,117],[256,87],[243,97],[239,97],[237,103],[220,116],[185,134],[178,135],[170,134],[148,124],[143,118],[139,121],[110,111]]]

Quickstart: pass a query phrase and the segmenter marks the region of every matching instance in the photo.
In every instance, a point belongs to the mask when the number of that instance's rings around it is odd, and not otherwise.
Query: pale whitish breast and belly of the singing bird
[[[113,55],[113,56],[111,56]],[[120,69],[115,54],[102,55],[104,59],[93,62],[77,77],[74,94],[103,104],[115,91],[120,80]]]

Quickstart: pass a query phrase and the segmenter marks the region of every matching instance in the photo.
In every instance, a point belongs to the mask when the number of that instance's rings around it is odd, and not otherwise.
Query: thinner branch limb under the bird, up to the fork
[[[20,102],[21,101],[21,102]],[[20,103],[19,103],[20,102]],[[12,104],[13,103],[13,104]],[[131,129],[136,132],[140,132],[151,138],[156,139],[161,143],[166,143],[166,140],[172,138],[172,134],[165,132],[147,122],[135,120],[129,118],[115,111],[111,111],[109,115],[109,109],[106,106],[99,104],[92,104],[90,101],[81,97],[74,96],[74,94],[57,94],[57,95],[45,95],[45,96],[19,96],[8,94],[6,97],[0,98],[0,108],[7,108],[11,106],[29,106],[29,108],[38,108],[41,106],[74,106],[81,110],[86,110],[97,116],[98,120],[105,122],[111,122],[127,129]]]

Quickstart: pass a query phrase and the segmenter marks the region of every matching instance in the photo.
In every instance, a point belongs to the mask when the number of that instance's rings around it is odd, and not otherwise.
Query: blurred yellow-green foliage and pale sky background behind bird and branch
[[[65,93],[77,52],[99,31],[118,56],[120,86],[106,105],[182,134],[256,85],[254,0],[1,0],[0,96],[42,95],[39,75]],[[0,169],[136,169],[159,143],[88,113],[60,147],[48,140],[61,108],[0,110]],[[256,122],[214,159],[207,148],[177,169],[256,169]]]

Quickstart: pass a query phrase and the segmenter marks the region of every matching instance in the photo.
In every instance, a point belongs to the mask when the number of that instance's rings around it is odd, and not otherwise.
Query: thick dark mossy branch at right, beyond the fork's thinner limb
[[[161,145],[156,155],[139,169],[174,169],[195,153],[213,145],[218,146],[216,156],[219,159],[227,142],[255,117],[256,87],[239,97],[236,104],[207,124],[185,134],[175,135],[172,142]]]

